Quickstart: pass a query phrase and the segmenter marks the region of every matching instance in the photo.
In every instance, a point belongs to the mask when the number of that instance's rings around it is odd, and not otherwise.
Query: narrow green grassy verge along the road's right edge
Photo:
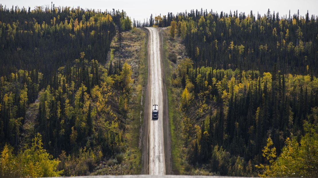
[[[172,171],[173,174],[184,174],[184,150],[183,140],[183,122],[181,120],[181,112],[179,110],[180,89],[174,88],[171,85],[172,73],[176,64],[169,60],[169,53],[171,52],[168,46],[171,45],[169,41],[169,30],[165,29],[163,35],[163,66],[165,71],[166,89],[168,94],[168,108],[169,108],[169,125],[171,133],[171,157],[172,157]]]

